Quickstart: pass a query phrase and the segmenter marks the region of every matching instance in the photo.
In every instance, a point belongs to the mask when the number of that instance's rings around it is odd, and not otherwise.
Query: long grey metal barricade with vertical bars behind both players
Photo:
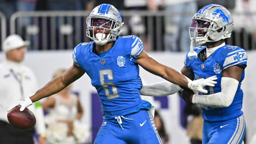
[[[173,28],[166,25],[166,17],[193,16],[192,13],[168,11],[120,11],[120,13],[124,22],[121,36],[122,34],[138,36],[144,42],[146,51],[168,50],[166,48],[168,39],[164,37]],[[30,40],[30,49],[73,49],[81,42],[91,41],[86,36],[86,17],[89,14],[90,11],[16,12],[11,16],[10,32]],[[186,31],[189,35],[188,28]],[[175,34],[179,35],[179,32],[180,30],[176,30]],[[254,37],[248,33],[234,32],[231,38],[225,41],[227,44],[244,49],[255,49]]]

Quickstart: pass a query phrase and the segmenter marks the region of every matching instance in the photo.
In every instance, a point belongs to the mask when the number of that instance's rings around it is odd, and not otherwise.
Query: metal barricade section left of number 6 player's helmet
[[[16,12],[10,32],[31,41],[31,49],[72,49],[86,39],[87,11]]]

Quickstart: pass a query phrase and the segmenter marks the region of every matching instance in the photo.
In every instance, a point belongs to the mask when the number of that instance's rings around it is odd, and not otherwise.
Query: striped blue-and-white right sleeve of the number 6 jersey
[[[130,44],[127,46],[130,54],[130,61],[136,63],[138,55],[144,50],[143,42],[137,36],[131,36],[130,39]]]

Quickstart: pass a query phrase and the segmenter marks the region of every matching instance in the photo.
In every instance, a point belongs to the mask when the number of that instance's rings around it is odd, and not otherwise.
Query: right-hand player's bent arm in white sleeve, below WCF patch
[[[222,73],[221,92],[211,95],[190,95],[192,103],[210,107],[228,107],[233,102],[243,69],[238,66],[226,68]]]

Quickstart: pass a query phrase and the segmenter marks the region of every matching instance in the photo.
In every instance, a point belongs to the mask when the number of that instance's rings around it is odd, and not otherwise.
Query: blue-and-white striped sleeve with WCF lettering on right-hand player
[[[247,65],[248,55],[244,49],[236,47],[234,50],[226,50],[223,53],[223,70],[233,65]]]

